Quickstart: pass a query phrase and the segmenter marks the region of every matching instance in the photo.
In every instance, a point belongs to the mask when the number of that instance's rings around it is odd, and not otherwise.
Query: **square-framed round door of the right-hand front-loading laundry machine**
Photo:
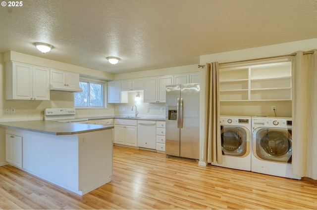
[[[260,128],[254,132],[254,155],[260,160],[292,162],[292,130]]]

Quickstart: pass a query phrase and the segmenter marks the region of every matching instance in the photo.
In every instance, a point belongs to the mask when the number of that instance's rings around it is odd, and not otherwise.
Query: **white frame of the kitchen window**
[[[106,86],[107,86],[107,83],[106,81],[101,81],[101,80],[92,80],[92,79],[86,79],[86,78],[80,78],[79,82],[83,82],[83,83],[88,83],[88,99],[89,99],[89,102],[88,102],[88,106],[76,106],[75,105],[75,93],[74,93],[74,108],[75,109],[105,109],[107,108],[106,107],[106,97],[107,97],[107,94],[106,94]],[[93,83],[93,84],[101,84],[103,86],[103,98],[102,98],[102,101],[103,101],[103,105],[102,106],[90,106],[90,84]]]

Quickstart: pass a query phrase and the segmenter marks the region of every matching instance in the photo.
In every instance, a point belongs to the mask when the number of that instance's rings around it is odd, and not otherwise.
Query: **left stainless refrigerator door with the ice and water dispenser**
[[[180,85],[166,86],[165,154],[179,156]],[[175,118],[176,115],[176,118]]]

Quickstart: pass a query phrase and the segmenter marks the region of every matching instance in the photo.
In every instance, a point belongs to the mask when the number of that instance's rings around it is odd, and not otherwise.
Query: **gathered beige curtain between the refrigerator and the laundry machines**
[[[205,70],[205,118],[202,162],[222,164],[220,136],[219,65],[206,64]]]

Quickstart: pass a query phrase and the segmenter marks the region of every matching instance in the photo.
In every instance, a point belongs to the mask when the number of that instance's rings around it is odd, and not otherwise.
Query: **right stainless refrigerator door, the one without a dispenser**
[[[199,159],[199,92],[199,84],[181,84],[180,157]]]

